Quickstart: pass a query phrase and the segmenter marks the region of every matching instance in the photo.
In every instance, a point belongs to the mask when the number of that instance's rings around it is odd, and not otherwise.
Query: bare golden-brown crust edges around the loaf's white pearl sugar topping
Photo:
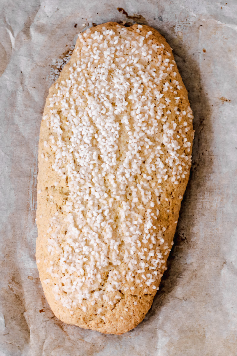
[[[114,22],[108,22],[106,24],[98,25],[91,28],[91,32],[102,31],[102,27],[108,29],[113,29],[114,31],[118,30],[118,24]],[[119,27],[123,27],[120,26]],[[135,24],[128,28],[129,31],[136,33],[138,25]],[[169,57],[173,59],[172,51],[168,43],[165,41],[158,31],[154,30],[152,27],[147,25],[142,25],[140,28],[139,35],[146,36],[146,34],[151,31],[152,35],[149,39],[152,40],[152,44],[163,44],[164,52],[167,51],[171,54]],[[81,43],[79,39],[76,43],[76,48],[80,47]],[[165,58],[165,54],[163,55]],[[50,87],[49,96],[46,99],[44,116],[48,115],[50,112],[50,100],[54,93],[57,93],[56,84],[61,83],[62,80],[69,78],[70,70],[74,62],[76,62],[77,53],[73,52],[72,57],[68,64],[64,67],[63,71],[60,73],[58,80]],[[178,73],[176,64],[174,64],[174,72],[177,73],[176,80],[179,82],[179,85],[182,86],[182,89],[179,90],[179,96],[182,99],[181,106],[187,108],[189,106],[187,90],[184,87],[181,76]],[[159,67],[157,68],[157,70]],[[174,106],[174,104],[173,104]],[[177,120],[177,115],[173,115],[173,119]],[[63,120],[63,119],[61,119]],[[192,122],[189,125],[190,130],[186,133],[188,142],[192,143],[193,139],[193,130]],[[36,246],[36,258],[37,266],[39,270],[39,276],[42,282],[43,290],[46,299],[50,307],[52,308],[54,314],[62,321],[68,324],[75,324],[82,328],[92,329],[100,331],[101,333],[111,333],[111,334],[122,334],[126,331],[133,329],[138,325],[145,317],[147,311],[150,309],[153,297],[156,294],[156,289],[152,289],[151,286],[145,286],[145,284],[139,288],[137,284],[131,283],[128,284],[129,288],[134,286],[134,291],[131,292],[131,289],[124,290],[120,292],[120,299],[114,305],[107,303],[104,300],[96,302],[95,305],[90,305],[87,303],[87,310],[84,312],[82,307],[74,306],[71,309],[65,308],[60,300],[55,299],[55,295],[52,292],[54,284],[58,283],[58,277],[52,277],[49,273],[50,268],[50,259],[56,258],[54,254],[48,251],[48,239],[52,230],[50,228],[50,219],[54,216],[57,211],[60,211],[59,208],[65,204],[65,201],[69,195],[69,187],[67,180],[64,177],[59,177],[58,173],[52,168],[55,160],[55,154],[51,146],[45,147],[45,142],[48,142],[49,136],[54,135],[50,126],[47,126],[46,120],[42,120],[41,132],[39,139],[39,174],[38,174],[38,206],[37,206],[37,226],[38,226],[38,238]],[[66,134],[65,134],[66,135]],[[64,137],[65,140],[67,137]],[[185,151],[185,148],[183,148]],[[192,144],[190,146],[189,155],[192,152]],[[48,157],[48,161],[45,161],[44,157]],[[161,204],[156,205],[154,209],[159,208],[160,214],[158,221],[160,223],[160,229],[165,226],[165,231],[162,231],[163,239],[165,240],[166,248],[164,245],[160,245],[160,250],[162,253],[163,262],[159,268],[160,277],[157,278],[155,285],[158,287],[160,283],[161,276],[166,266],[167,257],[172,246],[173,236],[176,229],[176,224],[178,220],[178,214],[180,209],[181,200],[188,182],[190,166],[187,169],[187,174],[185,178],[181,180],[181,183],[178,185],[173,184],[168,181],[163,184],[162,187],[165,187],[165,192],[161,193]],[[57,185],[55,185],[57,182]],[[152,196],[155,194],[152,192]],[[167,213],[167,209],[169,213]],[[155,211],[155,210],[154,210]],[[63,221],[63,218],[61,218]],[[52,226],[52,224],[51,224]],[[65,224],[61,223],[60,234],[64,234]],[[164,249],[165,248],[165,249]],[[165,254],[166,253],[166,254]],[[56,263],[56,262],[55,262]],[[45,282],[48,281],[48,282]],[[143,282],[142,282],[143,283]],[[146,287],[146,288],[145,288]],[[61,293],[61,291],[59,292]],[[97,314],[97,310],[102,308],[102,312]],[[104,319],[102,319],[104,316]]]

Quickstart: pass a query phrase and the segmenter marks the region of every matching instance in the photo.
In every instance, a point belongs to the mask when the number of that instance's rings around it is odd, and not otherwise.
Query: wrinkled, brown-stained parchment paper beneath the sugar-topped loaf
[[[1,0],[0,356],[237,355],[237,2],[225,1]],[[56,319],[34,257],[45,98],[82,28],[110,20],[166,37],[195,129],[168,270],[145,320],[120,336]]]

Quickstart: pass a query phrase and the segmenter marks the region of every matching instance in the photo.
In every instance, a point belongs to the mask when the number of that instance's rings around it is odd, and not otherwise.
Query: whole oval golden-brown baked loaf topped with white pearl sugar
[[[39,139],[36,258],[60,320],[122,334],[145,317],[188,182],[192,119],[154,28],[108,22],[79,34]]]

